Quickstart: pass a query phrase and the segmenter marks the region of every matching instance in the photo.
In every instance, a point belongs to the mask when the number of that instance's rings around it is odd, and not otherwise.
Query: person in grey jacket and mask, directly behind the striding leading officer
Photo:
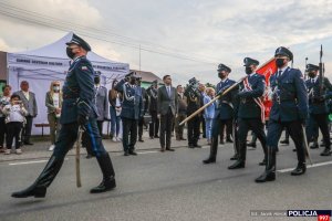
[[[97,127],[101,136],[103,137],[103,124],[108,119],[108,103],[107,103],[107,88],[101,85],[101,72],[96,72],[94,76],[95,90],[95,106],[97,108]]]

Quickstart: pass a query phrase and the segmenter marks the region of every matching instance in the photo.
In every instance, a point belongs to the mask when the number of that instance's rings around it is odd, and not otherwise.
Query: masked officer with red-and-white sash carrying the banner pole
[[[247,78],[240,84],[238,93],[237,107],[237,135],[239,157],[237,161],[229,166],[228,169],[239,169],[246,166],[247,155],[247,136],[252,130],[262,145],[264,159],[259,165],[266,165],[267,161],[267,137],[264,133],[264,108],[262,95],[266,91],[264,76],[257,74],[255,71],[259,64],[257,60],[246,57],[243,60]]]

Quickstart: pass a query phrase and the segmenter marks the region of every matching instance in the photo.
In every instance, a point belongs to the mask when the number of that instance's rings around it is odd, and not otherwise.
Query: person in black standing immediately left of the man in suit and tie
[[[159,119],[157,117],[158,113],[158,81],[153,81],[151,87],[146,90],[147,95],[149,96],[149,106],[148,112],[151,115],[151,124],[149,124],[149,138],[159,138]]]

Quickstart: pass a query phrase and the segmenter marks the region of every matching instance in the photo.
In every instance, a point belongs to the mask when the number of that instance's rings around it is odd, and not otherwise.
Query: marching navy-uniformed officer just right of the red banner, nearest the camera
[[[293,54],[287,48],[278,48],[274,57],[278,71],[270,77],[272,107],[267,137],[268,164],[256,182],[276,180],[276,150],[284,127],[295,144],[298,155],[298,166],[291,175],[302,175],[307,169],[302,125],[308,117],[308,94],[303,75],[300,70],[288,66],[288,63],[293,60]]]

